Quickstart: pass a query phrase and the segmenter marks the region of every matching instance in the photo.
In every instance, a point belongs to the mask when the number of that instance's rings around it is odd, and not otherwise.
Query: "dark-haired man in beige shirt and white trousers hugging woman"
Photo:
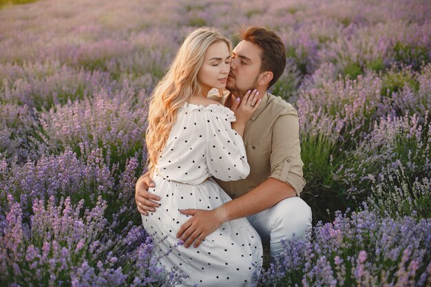
[[[191,215],[182,224],[177,237],[185,246],[199,246],[204,238],[223,222],[247,217],[269,244],[271,257],[279,256],[282,240],[295,235],[304,238],[311,228],[311,209],[299,198],[305,185],[299,147],[297,112],[280,97],[266,93],[282,75],[286,66],[286,49],[275,32],[264,28],[242,31],[242,41],[233,50],[231,72],[221,103],[232,107],[237,97],[257,89],[262,98],[259,107],[246,123],[244,145],[250,174],[244,180],[222,182],[220,187],[233,199],[212,211],[187,209]],[[136,182],[138,211],[155,212],[158,197],[147,192],[154,182],[147,174]]]

